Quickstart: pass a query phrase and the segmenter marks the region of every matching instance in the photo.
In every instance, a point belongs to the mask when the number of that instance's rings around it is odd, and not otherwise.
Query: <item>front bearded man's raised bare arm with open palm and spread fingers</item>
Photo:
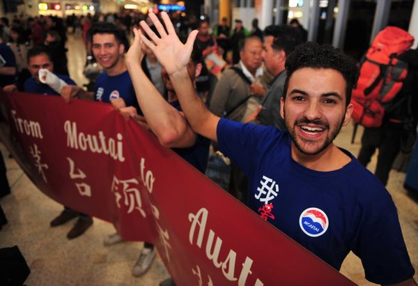
[[[160,37],[155,35],[146,22],[141,21],[141,27],[153,42],[148,40],[144,35],[141,35],[141,39],[153,50],[158,61],[167,70],[171,84],[173,84],[180,105],[192,129],[210,140],[217,141],[216,130],[219,117],[212,114],[206,108],[201,98],[196,96],[192,80],[187,73],[187,64],[192,54],[197,31],[192,31],[189,34],[189,38],[187,38],[187,42],[183,45],[176,35],[169,15],[165,12],[162,12],[161,15],[168,33],[164,30],[157,16],[150,13],[149,17],[157,28],[158,33],[160,33]]]

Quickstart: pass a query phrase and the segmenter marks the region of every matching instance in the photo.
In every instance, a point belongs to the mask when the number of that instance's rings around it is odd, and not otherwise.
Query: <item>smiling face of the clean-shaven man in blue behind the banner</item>
[[[100,66],[110,75],[117,74],[118,66],[123,63],[125,46],[119,44],[112,33],[96,33],[92,42],[91,50]]]

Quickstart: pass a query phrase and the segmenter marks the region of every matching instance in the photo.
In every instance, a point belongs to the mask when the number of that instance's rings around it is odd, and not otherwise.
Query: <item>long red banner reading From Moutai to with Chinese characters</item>
[[[0,97],[1,140],[31,181],[154,243],[178,285],[353,285],[111,105]]]

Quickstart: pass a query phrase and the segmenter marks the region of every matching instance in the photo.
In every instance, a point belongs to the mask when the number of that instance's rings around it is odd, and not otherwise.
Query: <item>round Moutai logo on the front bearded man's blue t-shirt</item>
[[[318,208],[309,208],[302,211],[299,218],[302,231],[312,237],[325,234],[330,225],[327,214]]]

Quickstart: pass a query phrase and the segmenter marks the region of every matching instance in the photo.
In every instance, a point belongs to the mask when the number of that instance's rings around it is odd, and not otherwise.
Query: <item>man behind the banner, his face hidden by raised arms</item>
[[[167,72],[162,68],[161,77],[164,88],[167,89],[167,100],[157,90],[153,82],[141,66],[145,49],[139,38],[140,31],[134,29],[134,43],[126,54],[125,62],[137,94],[137,100],[144,112],[146,128],[149,128],[160,141],[160,144],[173,149],[188,163],[204,173],[208,162],[210,140],[194,133],[181,112],[180,103],[170,82]],[[187,73],[192,82],[201,72],[202,52],[196,47],[187,65]],[[132,107],[120,109],[124,116],[137,119],[137,112]],[[112,234],[107,244],[123,241],[118,234]],[[144,248],[137,263],[132,269],[134,276],[141,276],[150,268],[155,258],[156,250],[152,243],[144,242]]]

